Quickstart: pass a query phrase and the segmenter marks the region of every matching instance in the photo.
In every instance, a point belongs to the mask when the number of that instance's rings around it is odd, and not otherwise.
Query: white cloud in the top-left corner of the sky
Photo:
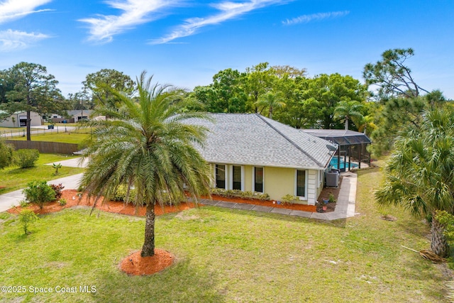
[[[6,0],[0,2],[0,24],[22,18],[31,13],[50,11],[50,9],[35,10],[38,6],[47,4],[52,0]]]

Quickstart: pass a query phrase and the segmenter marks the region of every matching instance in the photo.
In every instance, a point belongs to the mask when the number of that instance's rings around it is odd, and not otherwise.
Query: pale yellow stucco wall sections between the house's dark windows
[[[221,164],[221,163],[219,163]],[[227,175],[226,184],[227,188],[231,188],[231,165],[226,165]],[[245,191],[253,191],[253,166],[240,165],[243,167],[243,182]],[[214,177],[214,164],[211,165]],[[270,199],[279,200],[286,194],[292,196],[296,194],[296,169],[287,167],[264,167],[264,192],[270,195]],[[323,174],[323,172],[320,172]],[[317,170],[307,170],[306,173],[306,196],[300,200],[301,204],[316,204],[316,199],[321,193],[323,182],[319,181],[319,172]],[[215,186],[213,182],[213,186]]]

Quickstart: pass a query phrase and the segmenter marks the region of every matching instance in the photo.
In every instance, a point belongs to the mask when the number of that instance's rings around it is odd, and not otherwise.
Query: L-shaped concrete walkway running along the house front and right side
[[[355,199],[356,199],[356,182],[357,177],[353,172],[345,172],[342,174],[342,184],[339,190],[338,202],[336,203],[336,209],[327,213],[318,213],[310,211],[295,211],[292,209],[278,209],[271,206],[260,206],[254,204],[244,204],[226,201],[216,201],[209,199],[202,199],[201,204],[226,207],[229,209],[246,209],[250,211],[262,211],[269,212],[271,214],[285,214],[288,216],[303,216],[310,219],[319,220],[336,220],[345,219],[351,216],[355,216]]]

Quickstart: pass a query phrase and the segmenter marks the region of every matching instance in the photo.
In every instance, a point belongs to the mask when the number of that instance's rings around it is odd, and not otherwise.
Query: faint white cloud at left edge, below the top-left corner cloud
[[[23,50],[46,38],[50,38],[50,36],[43,33],[26,33],[13,30],[0,31],[0,51]]]

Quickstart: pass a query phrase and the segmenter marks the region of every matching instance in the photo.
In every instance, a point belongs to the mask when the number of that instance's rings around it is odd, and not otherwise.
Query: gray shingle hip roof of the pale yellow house
[[[258,114],[209,114],[190,119],[210,132],[199,150],[208,162],[323,169],[331,160],[326,140]],[[337,148],[337,146],[336,146]]]

